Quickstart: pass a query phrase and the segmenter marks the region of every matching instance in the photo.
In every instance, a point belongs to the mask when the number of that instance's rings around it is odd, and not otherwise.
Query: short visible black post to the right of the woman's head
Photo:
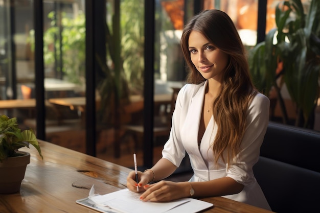
[[[267,16],[267,0],[258,1],[257,43],[264,41]]]

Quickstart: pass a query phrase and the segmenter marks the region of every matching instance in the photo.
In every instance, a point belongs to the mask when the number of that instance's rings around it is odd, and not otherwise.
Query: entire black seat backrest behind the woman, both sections
[[[273,211],[320,212],[320,133],[269,122],[254,174]]]

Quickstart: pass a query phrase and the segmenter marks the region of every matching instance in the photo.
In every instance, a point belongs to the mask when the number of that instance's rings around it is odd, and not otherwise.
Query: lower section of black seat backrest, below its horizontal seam
[[[320,173],[262,156],[253,169],[272,211],[320,212]]]

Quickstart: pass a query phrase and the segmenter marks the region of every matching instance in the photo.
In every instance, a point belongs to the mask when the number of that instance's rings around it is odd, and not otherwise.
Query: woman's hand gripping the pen
[[[139,182],[137,183],[135,180],[135,172],[132,171],[129,173],[129,175],[127,177],[127,187],[132,192],[138,192],[138,190],[136,188],[136,186],[138,185],[139,192],[144,192],[144,191],[146,191],[144,186],[149,183],[149,179],[150,179],[149,173],[147,173],[147,172],[143,173],[143,172],[138,171]]]

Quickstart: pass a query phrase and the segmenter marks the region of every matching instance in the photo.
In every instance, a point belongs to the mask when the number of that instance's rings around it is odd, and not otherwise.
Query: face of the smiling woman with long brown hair
[[[222,81],[223,70],[228,63],[227,54],[216,48],[197,31],[190,33],[189,51],[192,63],[203,78]]]

